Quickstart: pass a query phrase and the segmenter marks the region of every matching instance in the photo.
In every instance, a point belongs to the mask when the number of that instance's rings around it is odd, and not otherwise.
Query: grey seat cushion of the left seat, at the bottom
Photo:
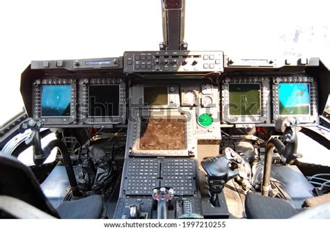
[[[62,219],[99,219],[103,212],[100,195],[93,195],[71,202],[63,202],[57,212]]]

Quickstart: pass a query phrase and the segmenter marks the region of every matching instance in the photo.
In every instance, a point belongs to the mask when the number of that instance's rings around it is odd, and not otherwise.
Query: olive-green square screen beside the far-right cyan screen
[[[229,84],[230,115],[260,115],[260,83]]]

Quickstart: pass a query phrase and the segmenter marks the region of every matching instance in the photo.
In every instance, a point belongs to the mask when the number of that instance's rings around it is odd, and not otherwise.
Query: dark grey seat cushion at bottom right
[[[299,212],[284,199],[249,192],[245,198],[245,213],[249,219],[287,219]]]

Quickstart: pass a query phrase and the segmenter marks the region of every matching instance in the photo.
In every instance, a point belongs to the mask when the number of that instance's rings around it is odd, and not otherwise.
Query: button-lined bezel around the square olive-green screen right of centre
[[[259,84],[260,85],[260,114],[259,115],[230,115],[230,85]],[[224,124],[257,124],[270,120],[269,79],[264,76],[233,76],[223,80],[221,88],[221,114]]]

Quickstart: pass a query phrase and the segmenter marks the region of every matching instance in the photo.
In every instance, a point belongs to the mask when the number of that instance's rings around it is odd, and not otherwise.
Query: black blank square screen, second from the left
[[[89,116],[119,116],[119,85],[89,86]]]

